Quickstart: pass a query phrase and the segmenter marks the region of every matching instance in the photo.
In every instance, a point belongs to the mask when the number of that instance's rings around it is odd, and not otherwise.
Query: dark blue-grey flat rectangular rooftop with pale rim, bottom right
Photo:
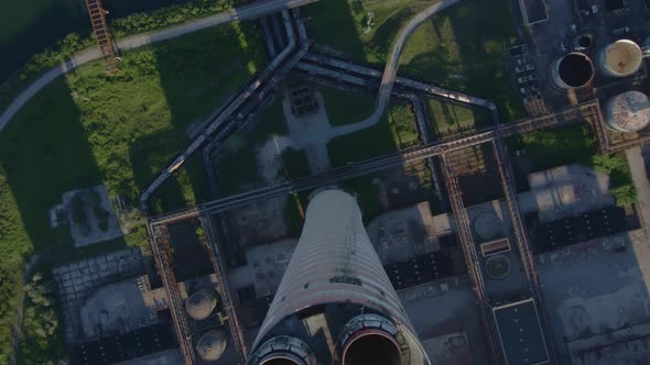
[[[549,351],[532,298],[492,308],[506,363],[546,364]]]

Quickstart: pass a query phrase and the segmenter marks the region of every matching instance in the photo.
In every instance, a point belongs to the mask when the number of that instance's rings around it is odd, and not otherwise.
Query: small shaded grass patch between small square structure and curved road
[[[319,87],[327,119],[332,125],[344,125],[361,121],[375,111],[375,96],[335,88]]]

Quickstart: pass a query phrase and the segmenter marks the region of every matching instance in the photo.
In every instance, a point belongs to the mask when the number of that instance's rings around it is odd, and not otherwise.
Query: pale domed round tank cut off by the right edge
[[[605,113],[613,130],[637,132],[650,123],[650,99],[639,91],[622,92],[607,102]]]

